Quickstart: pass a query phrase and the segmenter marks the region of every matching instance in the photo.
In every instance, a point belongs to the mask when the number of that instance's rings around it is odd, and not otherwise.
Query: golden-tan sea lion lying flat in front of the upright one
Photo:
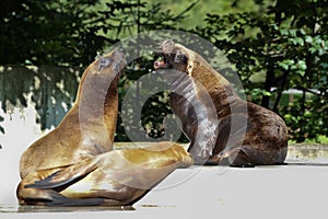
[[[17,189],[21,205],[132,205],[177,168],[192,159],[164,141],[145,149],[113,150],[67,166],[27,174]]]

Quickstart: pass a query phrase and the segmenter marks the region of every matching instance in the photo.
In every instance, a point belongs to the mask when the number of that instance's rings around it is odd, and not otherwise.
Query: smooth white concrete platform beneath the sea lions
[[[326,163],[191,166],[172,173],[133,208],[21,208],[23,212],[17,212],[17,205],[0,204],[0,218],[327,218],[327,199]]]

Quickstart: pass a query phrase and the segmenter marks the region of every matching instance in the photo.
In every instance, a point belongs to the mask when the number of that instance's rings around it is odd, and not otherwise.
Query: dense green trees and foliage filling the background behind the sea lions
[[[126,36],[163,28],[189,31],[224,51],[249,100],[279,113],[290,127],[291,139],[319,141],[328,136],[327,23],[328,0],[3,1],[0,65],[85,67]],[[195,45],[201,46],[197,42]],[[153,57],[142,57],[127,67],[119,82],[120,101],[134,80],[151,71],[153,61]],[[26,105],[24,95],[33,91],[39,122],[45,123],[49,108],[45,100],[58,99],[54,90],[63,78],[68,77],[60,91],[61,101],[74,97],[74,76],[62,69],[47,76],[23,68],[21,72],[12,71],[11,77],[31,79],[10,91],[1,88],[2,103],[16,104],[19,100]],[[35,80],[43,81],[44,90],[33,88]],[[285,94],[290,89],[300,94]],[[171,113],[166,95],[152,96],[142,108],[143,129],[155,138],[163,135],[162,119]],[[5,104],[2,107],[5,110]],[[116,139],[128,140],[120,117]]]

